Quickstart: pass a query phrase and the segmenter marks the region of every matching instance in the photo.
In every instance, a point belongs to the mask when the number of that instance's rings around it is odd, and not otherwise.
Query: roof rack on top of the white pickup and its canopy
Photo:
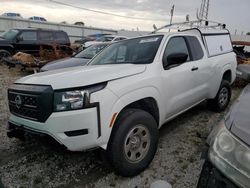
[[[174,27],[176,27],[176,28],[174,28]],[[169,31],[170,31],[170,29],[177,29],[178,31],[180,31],[181,30],[180,28],[183,28],[183,29],[187,29],[187,28],[189,28],[189,29],[192,29],[192,28],[197,28],[197,29],[207,29],[207,28],[225,29],[226,24],[211,21],[211,20],[198,19],[198,20],[193,20],[193,21],[171,23],[171,24],[164,25],[164,26],[162,26],[160,28],[156,28],[156,26],[154,25],[154,31],[152,31],[151,33],[156,33],[156,32],[158,32],[158,31],[160,31],[162,29],[169,29]]]

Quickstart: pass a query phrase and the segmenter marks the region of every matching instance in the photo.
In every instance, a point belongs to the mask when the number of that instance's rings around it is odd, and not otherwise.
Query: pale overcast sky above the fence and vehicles
[[[150,31],[152,25],[169,23],[170,9],[175,5],[174,22],[196,19],[201,0],[58,0],[73,6],[144,18],[145,20],[121,18],[86,10],[58,5],[50,0],[0,0],[0,14],[18,12],[24,18],[42,16],[51,22],[74,23],[83,21],[86,26],[113,29],[136,29]],[[250,0],[210,0],[209,19],[226,23],[232,33],[250,31]],[[150,19],[150,20],[149,20]]]

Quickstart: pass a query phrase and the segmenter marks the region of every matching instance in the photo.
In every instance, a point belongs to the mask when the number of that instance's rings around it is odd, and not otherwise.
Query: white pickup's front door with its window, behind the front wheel
[[[187,58],[180,64],[164,63],[164,59],[178,54],[186,54]],[[186,110],[199,102],[195,72],[198,62],[193,61],[185,36],[174,36],[168,40],[163,54],[162,87],[164,91],[166,119]],[[165,65],[164,65],[165,64]]]

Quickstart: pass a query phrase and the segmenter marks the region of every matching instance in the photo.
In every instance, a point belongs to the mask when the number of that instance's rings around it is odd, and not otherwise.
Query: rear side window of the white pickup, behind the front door
[[[204,56],[201,44],[199,40],[194,36],[186,37],[188,44],[190,46],[190,51],[192,53],[193,61],[202,59]]]

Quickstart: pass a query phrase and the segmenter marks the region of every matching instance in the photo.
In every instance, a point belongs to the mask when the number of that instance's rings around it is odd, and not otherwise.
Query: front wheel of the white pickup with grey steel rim
[[[159,132],[155,119],[139,109],[127,109],[118,117],[107,148],[115,172],[131,177],[153,160]]]

